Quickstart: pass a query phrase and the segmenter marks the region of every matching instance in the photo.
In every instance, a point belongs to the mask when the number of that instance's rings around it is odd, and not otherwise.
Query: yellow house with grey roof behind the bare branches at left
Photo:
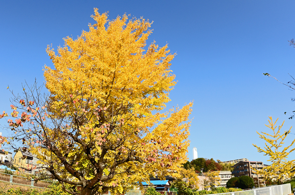
[[[37,165],[37,161],[39,159],[36,158],[32,153],[25,151],[24,148],[19,147],[17,153],[14,155],[14,163],[13,166],[19,168],[21,172],[30,172],[32,174],[37,171],[37,169],[30,169],[32,166]]]

